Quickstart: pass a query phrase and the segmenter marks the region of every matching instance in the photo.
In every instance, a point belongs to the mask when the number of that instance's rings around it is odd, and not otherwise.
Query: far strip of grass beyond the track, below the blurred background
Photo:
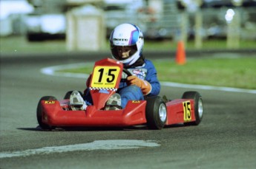
[[[240,41],[240,49],[255,49],[256,41]],[[161,51],[177,49],[177,42],[171,40],[165,41],[148,41],[145,40],[145,51]],[[186,49],[193,50],[194,41],[188,41]],[[226,49],[225,40],[203,41],[202,49]],[[108,40],[105,41],[105,46],[101,50],[109,50]],[[68,52],[64,40],[54,41],[39,41],[29,42],[24,36],[11,36],[0,38],[1,53],[56,53]]]

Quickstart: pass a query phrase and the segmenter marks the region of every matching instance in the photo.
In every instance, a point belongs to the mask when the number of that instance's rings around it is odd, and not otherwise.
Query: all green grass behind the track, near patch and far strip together
[[[58,53],[67,52],[65,41],[28,42],[22,36],[0,38],[0,54],[19,53]],[[176,50],[174,41],[145,41],[145,51]],[[240,49],[255,49],[256,41],[240,41]],[[186,49],[194,49],[194,41],[188,41]],[[203,49],[226,49],[226,41],[204,41]],[[108,50],[108,41],[105,48]],[[256,58],[239,57],[205,58],[188,60],[183,66],[174,61],[155,60],[160,80],[177,83],[204,84],[213,86],[229,86],[243,89],[256,89]],[[70,69],[65,72],[91,73],[91,67]]]

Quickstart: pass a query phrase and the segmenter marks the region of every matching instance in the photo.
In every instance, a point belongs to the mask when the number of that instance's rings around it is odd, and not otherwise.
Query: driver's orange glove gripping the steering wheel
[[[142,93],[144,95],[147,95],[151,92],[151,84],[148,83],[147,80],[141,80],[137,76],[134,76],[134,75],[128,76],[127,83],[128,83],[128,85],[136,85],[136,86],[140,87],[140,89],[142,90]]]

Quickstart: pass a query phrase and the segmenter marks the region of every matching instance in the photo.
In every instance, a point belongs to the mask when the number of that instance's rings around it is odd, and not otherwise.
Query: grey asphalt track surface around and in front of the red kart
[[[65,92],[85,87],[84,79],[43,75],[40,69],[96,58],[105,58],[105,54],[1,55],[1,169],[256,168],[253,93],[196,89],[204,101],[203,121],[198,126],[174,125],[160,131],[144,126],[36,128],[36,106],[42,96],[62,99]],[[161,94],[180,98],[189,90],[195,89],[163,86]],[[73,145],[83,147],[65,151]]]

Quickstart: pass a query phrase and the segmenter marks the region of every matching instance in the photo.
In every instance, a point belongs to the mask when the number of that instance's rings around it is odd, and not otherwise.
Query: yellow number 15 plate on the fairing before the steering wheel
[[[119,66],[96,66],[93,70],[91,87],[98,89],[114,89],[119,72]]]

